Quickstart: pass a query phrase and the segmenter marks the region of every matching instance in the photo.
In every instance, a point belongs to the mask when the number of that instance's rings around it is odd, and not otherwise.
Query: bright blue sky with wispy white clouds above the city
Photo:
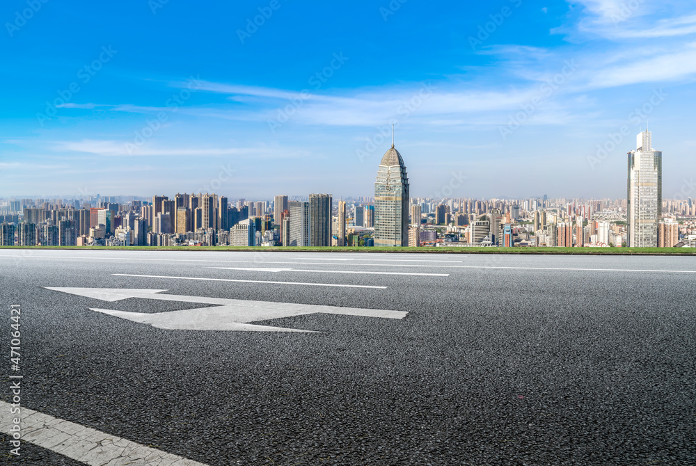
[[[0,196],[696,190],[693,2],[402,1],[5,1]]]

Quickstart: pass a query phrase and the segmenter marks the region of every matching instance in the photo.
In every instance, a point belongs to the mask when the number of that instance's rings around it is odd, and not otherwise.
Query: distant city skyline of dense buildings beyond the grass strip
[[[626,199],[411,198],[394,145],[374,197],[230,201],[216,193],[0,200],[0,246],[696,247],[696,205],[663,200],[650,131],[628,153]]]

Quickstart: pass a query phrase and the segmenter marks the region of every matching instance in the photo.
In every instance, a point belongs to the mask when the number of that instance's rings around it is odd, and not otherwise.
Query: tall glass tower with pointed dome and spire
[[[410,202],[404,159],[392,142],[374,183],[374,246],[409,246]]]

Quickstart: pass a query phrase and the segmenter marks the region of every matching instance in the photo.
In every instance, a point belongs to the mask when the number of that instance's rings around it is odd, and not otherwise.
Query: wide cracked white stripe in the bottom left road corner
[[[0,401],[0,431],[8,435],[13,418],[12,405]],[[206,466],[125,438],[116,437],[41,412],[21,408],[22,440],[55,451],[90,466]]]

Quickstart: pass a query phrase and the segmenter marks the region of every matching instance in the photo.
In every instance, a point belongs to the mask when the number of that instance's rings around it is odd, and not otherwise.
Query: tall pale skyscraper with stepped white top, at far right
[[[662,216],[662,152],[652,149],[652,133],[636,136],[628,152],[626,243],[630,248],[656,248]]]

